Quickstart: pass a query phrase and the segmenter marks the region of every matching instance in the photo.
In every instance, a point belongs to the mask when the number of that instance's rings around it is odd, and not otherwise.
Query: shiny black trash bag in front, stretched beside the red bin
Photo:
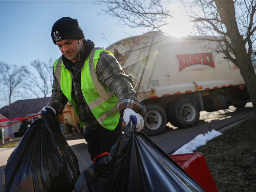
[[[74,192],[204,192],[172,158],[130,122],[109,156],[79,176]]]

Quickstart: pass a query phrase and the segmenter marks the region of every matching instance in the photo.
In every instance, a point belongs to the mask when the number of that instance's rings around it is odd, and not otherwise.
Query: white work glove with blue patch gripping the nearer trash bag
[[[132,109],[125,109],[123,121],[126,125],[132,120],[136,132],[140,132],[144,127],[143,117],[139,113],[135,113]]]

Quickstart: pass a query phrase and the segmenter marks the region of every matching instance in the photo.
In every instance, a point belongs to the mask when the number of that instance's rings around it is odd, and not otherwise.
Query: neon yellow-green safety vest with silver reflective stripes
[[[103,86],[95,72],[99,54],[103,51],[106,50],[101,48],[91,50],[81,70],[81,89],[86,103],[99,124],[106,129],[113,130],[116,128],[120,118],[120,114],[117,111],[118,99],[107,87]],[[109,53],[113,55],[113,53]],[[74,110],[77,114],[79,110],[76,108],[75,99],[71,97],[72,78],[70,72],[64,67],[62,57],[56,60],[53,66],[61,91],[63,91],[68,100],[71,99],[73,106],[75,104]],[[71,82],[70,86],[67,85],[69,82]],[[79,116],[79,114],[77,115]]]

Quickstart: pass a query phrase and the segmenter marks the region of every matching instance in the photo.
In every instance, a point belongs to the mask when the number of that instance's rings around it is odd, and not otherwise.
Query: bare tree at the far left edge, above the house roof
[[[1,63],[3,84],[7,88],[8,103],[11,104],[12,96],[18,86],[22,84],[24,76],[27,74],[27,69],[25,66],[18,67],[17,65],[10,66],[7,63]]]

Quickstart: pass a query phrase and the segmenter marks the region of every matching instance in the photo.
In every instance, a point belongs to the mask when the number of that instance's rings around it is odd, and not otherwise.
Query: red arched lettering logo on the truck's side
[[[178,54],[177,57],[180,62],[180,71],[185,67],[202,63],[214,67],[212,53]]]

